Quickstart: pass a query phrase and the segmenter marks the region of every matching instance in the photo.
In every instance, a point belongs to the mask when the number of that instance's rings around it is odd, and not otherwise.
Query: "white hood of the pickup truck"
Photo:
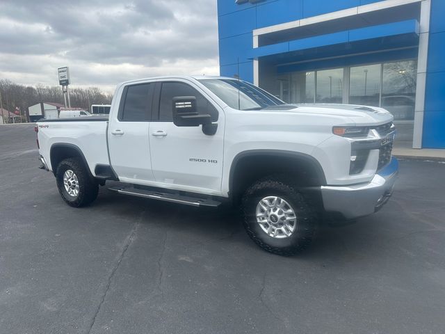
[[[358,104],[286,104],[277,107],[270,106],[267,110],[339,116],[348,118],[350,122],[354,122],[356,125],[385,124],[394,119],[391,113],[385,109]]]

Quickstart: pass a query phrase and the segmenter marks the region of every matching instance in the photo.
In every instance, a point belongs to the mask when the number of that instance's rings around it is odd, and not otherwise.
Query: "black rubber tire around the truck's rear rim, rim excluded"
[[[72,170],[77,177],[79,192],[76,196],[70,195],[63,184],[65,171]],[[71,207],[85,207],[90,205],[97,198],[99,184],[92,179],[86,166],[79,158],[69,158],[60,161],[56,173],[57,188],[63,200]]]

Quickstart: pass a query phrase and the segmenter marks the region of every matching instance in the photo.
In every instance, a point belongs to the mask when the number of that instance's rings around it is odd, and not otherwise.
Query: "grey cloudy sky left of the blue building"
[[[112,92],[128,79],[218,74],[216,0],[0,0],[0,79]]]

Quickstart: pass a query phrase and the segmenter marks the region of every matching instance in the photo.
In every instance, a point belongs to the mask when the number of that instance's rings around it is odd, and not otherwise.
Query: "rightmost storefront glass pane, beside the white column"
[[[382,108],[392,113],[394,120],[414,120],[416,77],[416,61],[383,64]]]

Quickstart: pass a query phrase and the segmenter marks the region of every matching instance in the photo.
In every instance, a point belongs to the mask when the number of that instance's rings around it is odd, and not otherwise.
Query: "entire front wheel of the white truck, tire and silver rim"
[[[252,184],[244,193],[242,214],[249,237],[278,255],[294,255],[309,246],[318,226],[313,207],[284,177]]]

